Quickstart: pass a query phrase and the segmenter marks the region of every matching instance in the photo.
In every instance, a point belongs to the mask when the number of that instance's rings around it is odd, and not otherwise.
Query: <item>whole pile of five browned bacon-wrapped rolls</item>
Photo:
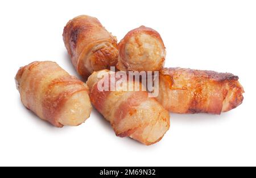
[[[117,39],[97,18],[80,15],[64,27],[63,40],[72,64],[86,84],[52,61],[35,61],[19,69],[15,81],[27,109],[56,127],[77,126],[89,118],[92,105],[117,136],[150,145],[170,127],[171,113],[221,114],[243,101],[243,88],[231,73],[164,68],[166,48],[160,34],[141,26]],[[140,81],[122,81],[129,71],[159,72],[159,90],[150,97]],[[114,78],[114,81],[110,80]],[[107,82],[105,82],[107,81]],[[107,90],[99,89],[99,85]],[[139,90],[129,90],[129,86]]]

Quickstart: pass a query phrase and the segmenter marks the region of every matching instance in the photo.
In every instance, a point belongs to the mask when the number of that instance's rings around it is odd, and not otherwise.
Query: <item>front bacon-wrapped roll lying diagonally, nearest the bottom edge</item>
[[[115,81],[109,79],[110,75]],[[142,91],[141,84],[137,92],[125,91],[129,85],[135,85],[128,81],[115,91],[102,91],[98,88],[103,81],[109,81],[110,86],[120,80],[115,73],[110,74],[107,70],[94,72],[86,82],[92,104],[111,123],[117,136],[130,136],[146,145],[158,142],[170,127],[168,111],[155,98],[149,98],[148,93]]]

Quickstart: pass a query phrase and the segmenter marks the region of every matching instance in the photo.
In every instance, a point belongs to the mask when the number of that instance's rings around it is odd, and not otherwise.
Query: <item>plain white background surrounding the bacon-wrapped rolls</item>
[[[152,146],[115,136],[97,111],[81,126],[55,128],[23,107],[19,67],[56,61],[76,75],[62,32],[69,19],[96,16],[121,40],[142,24],[157,30],[166,67],[231,72],[245,100],[221,115],[171,114],[171,128]],[[1,1],[1,165],[256,165],[255,1]]]

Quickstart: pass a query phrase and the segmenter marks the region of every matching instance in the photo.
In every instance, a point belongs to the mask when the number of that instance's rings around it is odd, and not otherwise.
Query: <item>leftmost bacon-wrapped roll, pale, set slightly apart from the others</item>
[[[54,62],[28,64],[15,81],[23,105],[52,125],[77,126],[89,118],[88,86]]]

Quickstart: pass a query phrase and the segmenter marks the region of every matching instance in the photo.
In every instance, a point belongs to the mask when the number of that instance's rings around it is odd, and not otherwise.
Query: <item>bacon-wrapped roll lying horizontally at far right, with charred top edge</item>
[[[173,113],[220,114],[242,104],[243,88],[231,73],[164,68],[157,100]]]

